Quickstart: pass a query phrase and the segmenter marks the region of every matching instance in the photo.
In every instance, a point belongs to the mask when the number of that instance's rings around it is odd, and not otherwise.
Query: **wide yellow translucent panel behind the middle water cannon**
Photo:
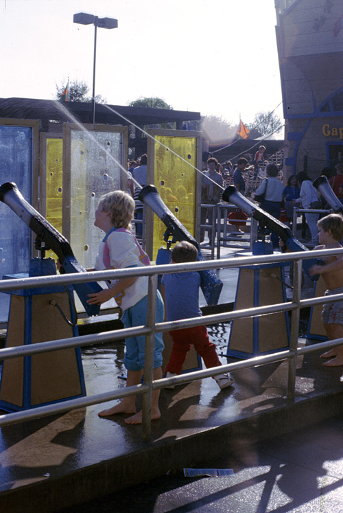
[[[165,205],[194,236],[197,138],[156,135],[155,139],[154,185]],[[182,158],[161,146],[159,142]],[[163,245],[163,233],[164,223],[154,216],[153,260],[156,260],[157,251]]]

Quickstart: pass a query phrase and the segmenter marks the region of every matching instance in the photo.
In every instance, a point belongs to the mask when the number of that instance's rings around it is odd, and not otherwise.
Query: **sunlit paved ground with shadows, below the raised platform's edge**
[[[179,468],[62,513],[342,513],[342,426],[331,418],[203,459],[202,468],[230,468],[230,477],[185,477]]]

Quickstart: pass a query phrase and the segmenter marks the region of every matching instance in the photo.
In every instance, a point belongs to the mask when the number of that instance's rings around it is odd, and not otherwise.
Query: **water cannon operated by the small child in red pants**
[[[139,192],[138,198],[139,201],[150,207],[152,212],[154,212],[167,227],[163,234],[163,240],[167,243],[167,251],[169,251],[171,244],[180,242],[181,240],[187,240],[187,242],[190,242],[196,247],[196,249],[198,249],[198,261],[204,260],[200,251],[200,245],[196,239],[191,236],[191,233],[189,233],[189,231],[180,223],[178,218],[170,212],[165,203],[163,203],[163,200],[154,185],[145,185],[145,187],[143,187]],[[221,280],[212,269],[200,271],[200,277],[200,286],[206,299],[206,303],[209,306],[216,305],[223,288]]]

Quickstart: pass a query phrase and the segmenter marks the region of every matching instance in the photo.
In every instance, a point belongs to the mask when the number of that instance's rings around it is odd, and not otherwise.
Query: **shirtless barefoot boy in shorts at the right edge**
[[[341,248],[340,240],[343,238],[343,218],[340,214],[329,214],[317,223],[320,246],[315,249]],[[343,293],[343,258],[341,255],[324,259],[324,265],[314,265],[310,269],[311,275],[321,274],[327,290],[325,295]],[[343,301],[326,303],[322,309],[322,323],[329,340],[343,337]],[[333,358],[323,365],[338,367],[343,365],[343,345],[333,347],[320,355],[321,358]]]

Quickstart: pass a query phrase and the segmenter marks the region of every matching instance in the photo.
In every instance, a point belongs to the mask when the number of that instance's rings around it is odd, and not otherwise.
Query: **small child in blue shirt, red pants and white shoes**
[[[183,240],[175,244],[171,251],[171,264],[180,262],[196,262],[198,250],[190,242]],[[162,278],[165,287],[165,306],[167,310],[167,321],[177,321],[190,317],[200,317],[202,312],[199,308],[199,287],[200,274],[190,271],[189,273],[165,274]],[[165,373],[167,378],[180,374],[182,365],[185,362],[187,352],[191,344],[204,360],[207,368],[222,365],[217,356],[215,345],[209,341],[206,326],[194,326],[169,332],[173,339],[173,349]],[[228,374],[214,376],[220,389],[229,387],[234,383],[233,378]],[[171,387],[174,388],[174,387]]]

